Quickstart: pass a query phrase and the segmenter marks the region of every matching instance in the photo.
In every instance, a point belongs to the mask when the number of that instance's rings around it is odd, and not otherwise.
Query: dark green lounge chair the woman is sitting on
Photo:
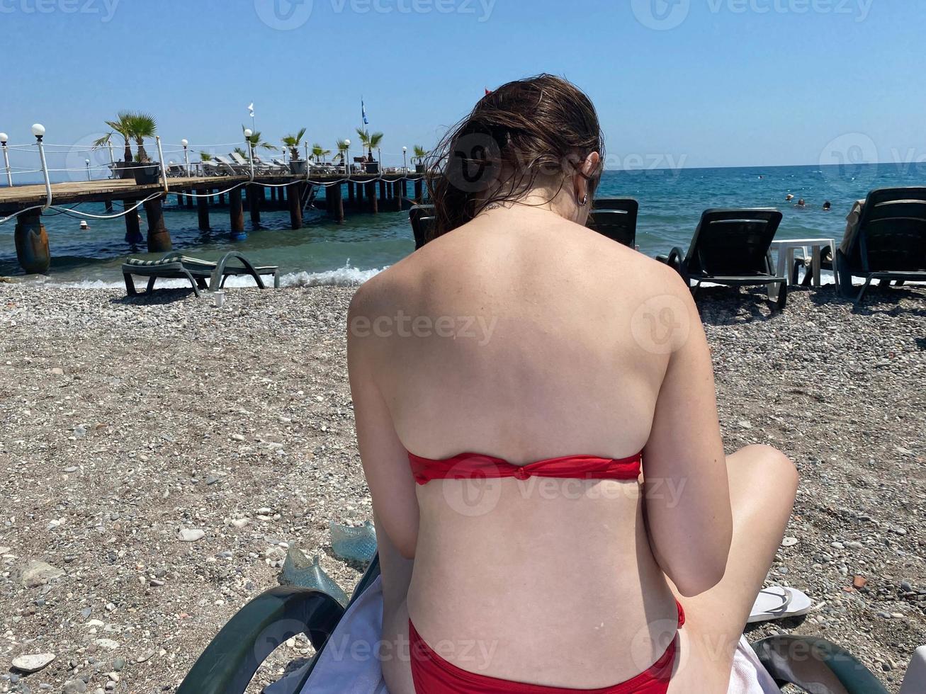
[[[379,575],[379,557],[374,557],[348,608]],[[177,694],[243,694],[272,651],[286,639],[306,634],[316,655],[306,670],[287,683],[288,691],[302,692],[344,612],[338,601],[320,590],[269,589],[232,616],[194,663]],[[887,694],[851,653],[822,638],[775,636],[753,644],[753,650],[779,687],[792,684],[820,692],[816,683],[835,677],[846,694]]]

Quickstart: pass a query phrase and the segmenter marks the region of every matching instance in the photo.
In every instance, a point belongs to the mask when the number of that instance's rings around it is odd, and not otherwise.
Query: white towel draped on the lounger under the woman
[[[382,581],[377,577],[344,613],[300,694],[389,694],[374,655],[381,633]],[[305,671],[303,667],[264,691],[296,694],[295,683]],[[781,694],[745,637],[733,656],[728,694]]]

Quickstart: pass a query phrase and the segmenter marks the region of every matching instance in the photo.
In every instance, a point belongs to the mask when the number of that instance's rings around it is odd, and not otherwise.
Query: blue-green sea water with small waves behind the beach
[[[701,213],[711,207],[778,207],[784,218],[777,239],[838,241],[854,201],[875,188],[926,184],[926,171],[921,169],[915,165],[859,165],[607,171],[597,195],[639,201],[637,244],[648,255],[667,254],[673,246],[686,248]],[[788,193],[795,196],[790,203],[785,200]],[[806,207],[795,206],[800,198],[806,200]],[[227,207],[210,208],[212,229],[203,232],[197,229],[195,208],[178,207],[175,201],[171,195],[164,208],[175,250],[211,260],[227,251],[240,251],[258,265],[280,266],[283,285],[357,284],[415,249],[407,212],[348,212],[344,224],[335,224],[320,210],[310,210],[306,226],[294,230],[288,228],[288,211],[263,209],[260,228],[253,229],[245,213],[247,238],[232,241]],[[827,201],[832,204],[830,212],[823,211]],[[78,205],[74,211],[105,214],[103,204],[96,203]],[[119,266],[126,257],[157,257],[124,241],[122,218],[86,218],[90,229],[81,231],[77,218],[54,213],[43,216],[52,266],[42,281],[82,287],[119,286]],[[0,225],[0,275],[22,275],[13,243],[14,227],[13,221]]]

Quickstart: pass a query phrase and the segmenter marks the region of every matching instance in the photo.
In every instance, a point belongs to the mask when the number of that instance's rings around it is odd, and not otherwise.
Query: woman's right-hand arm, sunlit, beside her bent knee
[[[646,518],[657,562],[685,596],[716,585],[732,537],[730,488],[720,440],[710,352],[691,292],[671,272],[668,304],[683,327],[659,390],[644,448]],[[683,308],[682,308],[683,306]]]

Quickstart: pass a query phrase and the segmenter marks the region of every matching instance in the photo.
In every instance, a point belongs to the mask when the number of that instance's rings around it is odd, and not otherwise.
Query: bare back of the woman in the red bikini
[[[530,207],[425,246],[363,288],[351,325],[377,338],[365,353],[393,457],[480,452],[521,465],[640,452],[673,345],[691,328],[680,285],[655,261]],[[658,493],[678,493],[671,482]],[[399,632],[410,614],[451,663],[600,688],[644,671],[674,637],[676,605],[636,482],[411,489],[419,517],[393,515],[384,528],[407,555],[414,548],[407,612],[386,612]]]

